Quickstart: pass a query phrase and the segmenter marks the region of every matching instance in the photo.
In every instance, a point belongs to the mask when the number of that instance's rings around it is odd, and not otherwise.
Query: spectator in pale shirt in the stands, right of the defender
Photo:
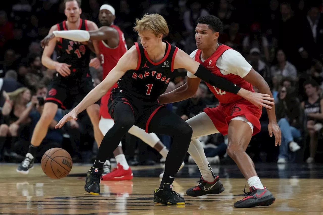
[[[297,80],[296,67],[286,60],[285,52],[281,49],[276,54],[277,64],[270,68],[271,75],[280,74],[283,77],[289,77],[292,80]]]

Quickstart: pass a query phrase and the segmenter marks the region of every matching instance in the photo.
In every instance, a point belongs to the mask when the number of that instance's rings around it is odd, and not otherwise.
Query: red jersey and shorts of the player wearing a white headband
[[[115,48],[110,48],[104,41],[100,41],[99,48],[101,53],[101,64],[103,67],[103,78],[102,80],[107,77],[111,69],[113,69],[121,56],[126,53],[127,51],[127,45],[126,41],[123,35],[123,32],[120,30],[118,26],[111,25],[110,27],[116,29],[119,33],[119,45]],[[100,117],[103,118],[111,118],[108,111],[108,100],[111,94],[111,90],[115,87],[117,87],[117,83],[115,83],[107,92],[106,95],[104,95],[101,98],[101,106],[100,106]]]

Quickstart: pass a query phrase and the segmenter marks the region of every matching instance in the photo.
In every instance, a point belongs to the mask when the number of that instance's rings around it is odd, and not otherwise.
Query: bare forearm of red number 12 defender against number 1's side
[[[193,92],[190,90],[187,83],[185,83],[181,87],[178,87],[169,93],[160,95],[158,100],[161,104],[169,104],[191,98],[195,95],[195,93],[196,91]]]

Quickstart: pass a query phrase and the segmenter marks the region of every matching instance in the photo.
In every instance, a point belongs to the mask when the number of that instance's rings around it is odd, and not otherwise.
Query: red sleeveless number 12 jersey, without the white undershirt
[[[202,51],[200,49],[198,49],[196,52],[196,55],[195,55],[195,61],[202,64],[205,68],[210,70],[213,74],[215,74],[219,77],[223,77],[223,78],[231,81],[232,83],[238,85],[239,87],[242,87],[242,88],[249,90],[251,92],[255,92],[254,88],[252,87],[252,84],[247,82],[245,79],[243,79],[240,76],[234,75],[234,74],[223,75],[221,73],[220,69],[216,66],[216,61],[218,60],[218,58],[228,49],[232,49],[232,48],[219,43],[219,47],[215,50],[213,55],[211,55],[209,58],[207,58],[204,62],[202,62],[202,60],[201,60]],[[222,91],[221,89],[214,87],[208,83],[206,83],[206,85],[209,87],[211,92],[215,95],[215,97],[219,100],[219,102],[221,104],[233,103],[238,100],[244,99],[241,96],[238,96],[234,93]]]

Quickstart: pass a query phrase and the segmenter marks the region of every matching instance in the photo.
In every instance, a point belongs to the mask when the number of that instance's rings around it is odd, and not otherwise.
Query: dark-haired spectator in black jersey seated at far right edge
[[[306,118],[305,124],[309,135],[309,157],[307,163],[313,163],[318,146],[318,134],[323,128],[323,99],[318,96],[318,83],[313,79],[304,82],[307,100],[302,101],[301,107],[304,109]]]

